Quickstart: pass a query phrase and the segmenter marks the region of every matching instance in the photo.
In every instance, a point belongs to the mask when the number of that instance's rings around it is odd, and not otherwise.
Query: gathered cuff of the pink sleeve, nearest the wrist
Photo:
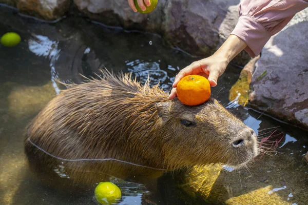
[[[247,44],[245,51],[251,57],[259,55],[266,42],[271,38],[271,34],[257,20],[249,16],[240,16],[231,34],[244,40]]]

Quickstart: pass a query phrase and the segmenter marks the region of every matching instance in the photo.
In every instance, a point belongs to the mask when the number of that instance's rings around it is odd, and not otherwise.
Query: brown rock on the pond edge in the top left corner
[[[63,16],[70,6],[69,0],[0,0],[0,3],[15,6],[22,13],[46,20],[54,20]]]

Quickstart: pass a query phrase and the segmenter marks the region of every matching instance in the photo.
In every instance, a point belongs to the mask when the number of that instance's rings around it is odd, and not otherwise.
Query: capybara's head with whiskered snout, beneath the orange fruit
[[[177,162],[183,166],[221,162],[239,168],[259,152],[255,132],[216,99],[200,106],[165,101],[157,104],[157,111],[165,130],[164,152],[171,166]]]

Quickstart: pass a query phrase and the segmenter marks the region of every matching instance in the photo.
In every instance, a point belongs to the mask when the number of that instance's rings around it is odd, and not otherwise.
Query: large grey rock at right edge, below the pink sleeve
[[[265,45],[249,95],[256,109],[303,128],[308,128],[307,33],[305,9]],[[259,78],[265,71],[266,75]]]

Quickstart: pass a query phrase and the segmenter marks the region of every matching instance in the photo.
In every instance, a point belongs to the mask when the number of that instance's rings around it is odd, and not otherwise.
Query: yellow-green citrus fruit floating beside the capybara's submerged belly
[[[101,204],[117,203],[121,199],[121,190],[112,182],[100,182],[94,191],[95,198]]]

